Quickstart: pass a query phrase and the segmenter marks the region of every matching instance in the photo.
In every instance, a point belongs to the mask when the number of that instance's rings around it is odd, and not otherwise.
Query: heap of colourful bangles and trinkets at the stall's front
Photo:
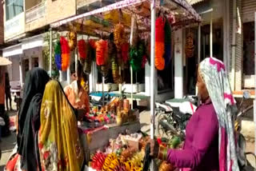
[[[130,140],[134,141],[134,143],[130,143]],[[92,155],[90,166],[93,169],[102,171],[142,170],[145,146],[149,140],[150,137],[143,137],[142,133],[119,134],[116,139],[110,139],[110,144],[106,147],[104,153],[98,151]],[[158,142],[160,142],[160,145],[169,147],[174,145],[178,147],[177,143],[181,143],[178,137],[173,137],[171,140],[158,138]],[[172,171],[175,169],[173,165],[166,161],[157,160],[156,163],[160,171]]]

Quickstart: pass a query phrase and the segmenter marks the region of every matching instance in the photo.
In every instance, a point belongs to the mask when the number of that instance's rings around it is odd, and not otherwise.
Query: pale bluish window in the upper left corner
[[[6,0],[6,21],[23,12],[23,0]]]

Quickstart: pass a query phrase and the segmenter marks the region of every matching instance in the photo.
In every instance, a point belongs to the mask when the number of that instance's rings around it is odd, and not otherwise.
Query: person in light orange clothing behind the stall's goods
[[[86,90],[82,87],[82,66],[78,62],[78,75],[75,72],[75,64],[70,67],[71,82],[64,89],[66,97],[75,109],[85,109],[85,113],[90,111],[89,97]]]

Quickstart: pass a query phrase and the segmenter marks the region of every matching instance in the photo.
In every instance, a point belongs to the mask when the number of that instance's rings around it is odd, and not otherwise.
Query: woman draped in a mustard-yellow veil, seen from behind
[[[83,150],[74,109],[56,81],[46,84],[42,97],[39,153],[42,171],[80,171]]]

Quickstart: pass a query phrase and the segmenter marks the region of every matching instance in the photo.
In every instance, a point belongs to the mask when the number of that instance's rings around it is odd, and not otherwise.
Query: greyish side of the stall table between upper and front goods
[[[82,147],[85,152],[86,161],[90,160],[90,153],[94,153],[97,149],[103,149],[109,144],[111,138],[117,138],[119,133],[136,133],[141,129],[139,121],[126,123],[118,126],[117,124],[106,125],[96,130],[88,131],[85,127],[79,126],[83,133],[80,137]]]

